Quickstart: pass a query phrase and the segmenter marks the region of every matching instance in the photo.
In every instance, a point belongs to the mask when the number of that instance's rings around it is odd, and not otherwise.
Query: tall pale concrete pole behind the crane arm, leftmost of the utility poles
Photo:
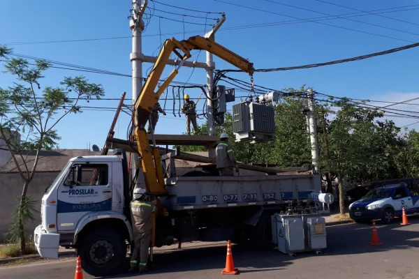
[[[142,61],[144,60],[142,55],[142,31],[144,31],[144,21],[142,15],[144,14],[145,8],[147,7],[147,0],[141,6],[141,0],[133,1],[133,10],[131,13],[131,20],[129,21],[129,27],[133,32],[133,52],[130,54],[130,60],[133,64],[133,105],[135,105],[138,96],[142,89]],[[134,115],[134,114],[133,114]],[[134,176],[138,167],[138,154],[132,153],[131,161],[131,175]],[[144,174],[142,170],[138,173],[138,179],[135,182],[135,188],[145,188]]]

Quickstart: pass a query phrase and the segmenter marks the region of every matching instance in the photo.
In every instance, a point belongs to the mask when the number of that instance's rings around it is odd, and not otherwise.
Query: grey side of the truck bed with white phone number
[[[172,210],[306,202],[309,193],[321,191],[318,174],[179,176],[165,180],[169,195],[161,197],[161,202]]]

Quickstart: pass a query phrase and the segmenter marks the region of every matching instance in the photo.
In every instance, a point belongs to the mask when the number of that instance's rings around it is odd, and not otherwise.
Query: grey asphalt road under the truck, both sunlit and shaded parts
[[[398,220],[397,220],[398,221]],[[233,246],[235,266],[240,278],[287,279],[413,279],[419,278],[419,219],[412,225],[378,225],[383,246],[369,246],[369,225],[328,227],[328,248],[323,255],[299,254],[297,257],[279,251],[254,251]],[[194,248],[155,255],[160,269],[144,275],[121,274],[107,278],[225,278],[221,275],[226,262],[226,247]],[[75,259],[41,262],[26,266],[0,268],[1,279],[74,278]],[[84,273],[84,278],[93,278]]]

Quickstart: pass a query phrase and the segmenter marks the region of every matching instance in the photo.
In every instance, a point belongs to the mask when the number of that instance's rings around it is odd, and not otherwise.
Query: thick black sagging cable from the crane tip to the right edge
[[[216,1],[216,0],[214,0],[214,1]],[[371,57],[374,57],[374,56],[381,56],[381,55],[390,54],[390,53],[393,53],[393,52],[400,52],[402,50],[409,50],[413,47],[418,47],[418,46],[419,46],[419,43],[413,43],[411,45],[404,45],[403,47],[392,48],[391,50],[384,50],[383,52],[375,52],[375,53],[372,53],[372,54],[355,56],[355,57],[347,58],[347,59],[329,61],[329,62],[324,62],[324,63],[309,64],[309,65],[304,65],[304,66],[257,69],[257,70],[255,70],[255,72],[265,73],[265,72],[277,72],[277,71],[280,71],[280,70],[297,70],[297,69],[316,68],[316,67],[321,67],[321,66],[334,65],[334,64],[338,64],[338,63],[359,61],[359,60],[371,58]],[[227,73],[227,72],[243,72],[243,70],[235,70],[235,69],[234,70],[220,70],[220,71],[224,72],[224,73]]]

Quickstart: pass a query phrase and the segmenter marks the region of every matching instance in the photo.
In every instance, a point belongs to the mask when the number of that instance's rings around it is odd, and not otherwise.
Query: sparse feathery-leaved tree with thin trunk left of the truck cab
[[[20,253],[24,255],[24,224],[34,218],[31,214],[34,202],[27,197],[27,190],[36,173],[39,152],[57,145],[60,137],[54,128],[68,114],[81,112],[80,99],[101,98],[104,91],[101,84],[89,83],[84,77],[65,77],[61,86],[41,89],[43,73],[50,68],[50,63],[36,60],[35,65],[30,66],[25,59],[9,58],[10,54],[11,49],[0,46],[0,57],[7,59],[3,73],[16,79],[7,89],[0,88],[0,135],[24,181],[20,204],[10,229],[11,235],[20,241]],[[26,140],[19,140],[19,132],[27,135]],[[33,163],[24,155],[29,152],[36,154]]]

